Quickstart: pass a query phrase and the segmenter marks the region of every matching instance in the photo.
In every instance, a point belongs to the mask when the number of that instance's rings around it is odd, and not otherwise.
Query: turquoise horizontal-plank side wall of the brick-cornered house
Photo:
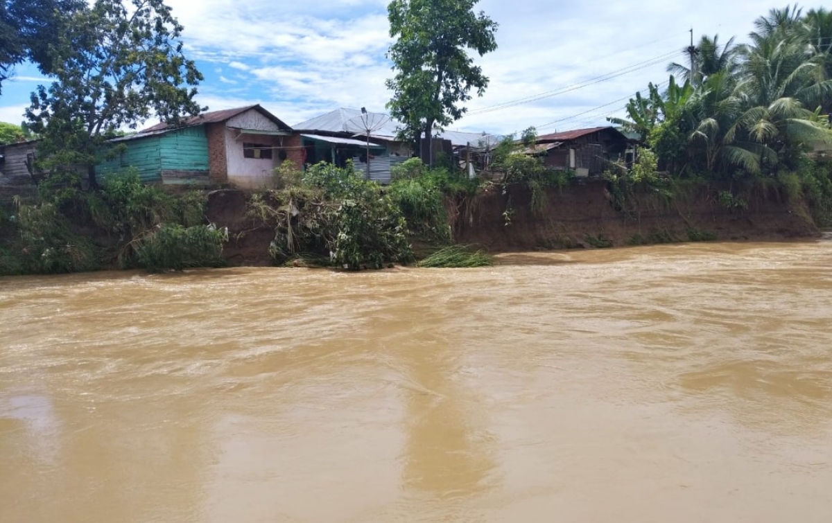
[[[161,183],[162,170],[208,173],[208,139],[205,126],[189,127],[164,135],[122,141],[124,150],[97,166],[99,175],[135,167],[145,183]]]

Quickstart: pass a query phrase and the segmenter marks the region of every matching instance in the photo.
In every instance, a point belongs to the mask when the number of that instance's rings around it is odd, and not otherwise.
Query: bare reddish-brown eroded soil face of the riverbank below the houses
[[[535,215],[524,186],[503,192],[497,185],[459,210],[454,239],[491,253],[655,244],[701,239],[775,240],[820,235],[805,205],[790,205],[780,190],[760,187],[741,194],[744,210],[718,200],[726,187],[701,186],[666,198],[641,193],[614,209],[607,183],[586,180],[549,190],[547,209]],[[218,190],[209,195],[206,215],[228,227],[225,257],[234,265],[269,265],[274,229],[246,215],[249,194]],[[509,210],[507,213],[506,211]],[[509,223],[507,224],[507,215]]]

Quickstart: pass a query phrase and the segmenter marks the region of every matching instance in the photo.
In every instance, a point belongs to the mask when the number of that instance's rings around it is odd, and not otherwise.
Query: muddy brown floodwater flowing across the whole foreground
[[[0,279],[0,521],[832,521],[832,241]]]

